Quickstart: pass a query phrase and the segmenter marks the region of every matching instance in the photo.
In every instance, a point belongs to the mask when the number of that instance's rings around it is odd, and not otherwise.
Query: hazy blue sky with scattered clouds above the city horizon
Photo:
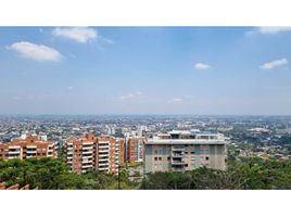
[[[291,27],[0,27],[0,114],[291,115]]]

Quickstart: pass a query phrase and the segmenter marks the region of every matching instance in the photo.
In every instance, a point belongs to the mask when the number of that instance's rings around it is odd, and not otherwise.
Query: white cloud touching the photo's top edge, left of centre
[[[58,27],[52,30],[52,35],[75,40],[80,43],[86,43],[98,38],[97,30],[89,27]]]

